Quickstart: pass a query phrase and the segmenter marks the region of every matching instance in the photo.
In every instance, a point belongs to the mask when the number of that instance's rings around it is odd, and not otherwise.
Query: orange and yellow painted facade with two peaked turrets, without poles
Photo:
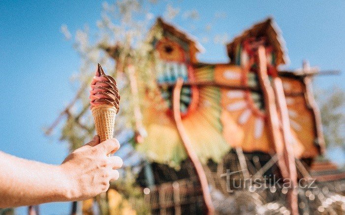
[[[144,115],[148,138],[138,146],[139,150],[161,163],[168,163],[176,153],[183,154],[171,117],[172,85],[181,78],[185,81],[180,101],[183,123],[203,163],[208,159],[219,161],[230,147],[241,147],[245,152],[274,153],[257,75],[258,64],[254,59],[255,46],[262,45],[268,59],[269,78],[282,80],[295,154],[298,158],[317,156],[324,144],[322,134],[315,132],[319,126],[315,118],[319,116],[310,105],[314,101],[308,101],[304,80],[278,71],[278,66],[287,59],[278,32],[268,19],[227,45],[228,64],[206,64],[196,61],[195,54],[200,49],[196,41],[158,19],[150,39],[160,58],[155,71],[165,109],[147,108]],[[160,37],[153,36],[154,33]],[[166,144],[157,144],[161,140]],[[181,159],[184,158],[182,155]]]

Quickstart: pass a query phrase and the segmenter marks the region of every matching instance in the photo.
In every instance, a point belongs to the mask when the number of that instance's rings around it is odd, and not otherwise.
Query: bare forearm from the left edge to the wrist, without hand
[[[69,200],[69,184],[60,166],[2,152],[0,163],[0,208]]]

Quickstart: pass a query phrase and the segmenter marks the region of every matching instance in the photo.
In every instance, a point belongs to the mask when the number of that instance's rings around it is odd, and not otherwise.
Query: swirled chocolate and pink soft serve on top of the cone
[[[98,63],[98,69],[91,82],[90,91],[91,108],[98,105],[112,105],[119,112],[120,95],[113,77],[105,75]]]

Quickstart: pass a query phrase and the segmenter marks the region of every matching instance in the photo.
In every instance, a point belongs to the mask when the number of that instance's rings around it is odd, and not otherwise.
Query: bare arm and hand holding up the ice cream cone
[[[85,200],[106,191],[117,180],[121,158],[116,139],[98,136],[72,152],[61,165],[29,161],[0,152],[0,208],[46,202]]]

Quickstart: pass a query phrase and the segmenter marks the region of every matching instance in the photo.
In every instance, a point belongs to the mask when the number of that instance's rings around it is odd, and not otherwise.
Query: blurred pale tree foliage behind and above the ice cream
[[[137,75],[140,80],[146,81],[148,60],[147,55],[151,47],[146,46],[143,41],[143,33],[146,32],[148,19],[143,18],[141,22],[134,21],[133,16],[145,15],[142,5],[136,0],[118,1],[113,5],[103,3],[102,19],[97,22],[97,34],[90,36],[90,29],[84,27],[83,30],[76,32],[74,48],[80,54],[82,66],[80,74],[72,77],[72,81],[79,85],[80,90],[77,92],[75,104],[66,109],[67,120],[62,128],[62,140],[67,140],[71,144],[71,149],[76,149],[90,139],[94,134],[93,120],[89,108],[89,83],[94,75],[95,65],[101,63],[107,73],[118,80],[118,87],[121,92],[121,109],[117,115],[116,131],[121,131],[126,127],[133,128],[133,105],[140,104],[141,101],[132,99],[129,79],[126,74],[125,64],[128,56],[134,60]],[[116,24],[115,24],[116,23]],[[63,25],[62,31],[66,39],[71,37],[67,27]],[[119,57],[122,65],[116,65],[106,54],[109,47],[121,44]],[[131,49],[131,46],[140,47]],[[137,64],[136,62],[141,62]],[[146,62],[146,63],[145,63]],[[139,92],[142,93],[142,92]],[[138,98],[138,97],[134,97]],[[139,97],[140,98],[140,97]]]

